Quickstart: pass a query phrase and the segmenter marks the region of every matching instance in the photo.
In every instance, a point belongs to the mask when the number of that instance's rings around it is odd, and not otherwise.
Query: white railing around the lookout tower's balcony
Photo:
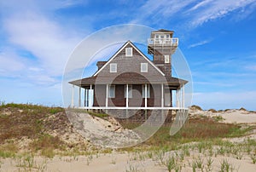
[[[178,38],[148,38],[148,45],[177,46]]]

